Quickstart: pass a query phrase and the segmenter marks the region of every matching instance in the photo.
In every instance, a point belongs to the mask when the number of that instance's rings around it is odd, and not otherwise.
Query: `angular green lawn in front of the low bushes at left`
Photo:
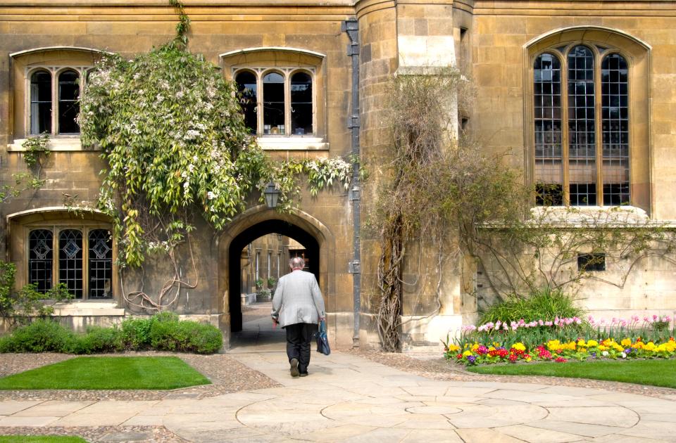
[[[165,390],[209,383],[178,357],[76,357],[0,378],[0,389]]]

